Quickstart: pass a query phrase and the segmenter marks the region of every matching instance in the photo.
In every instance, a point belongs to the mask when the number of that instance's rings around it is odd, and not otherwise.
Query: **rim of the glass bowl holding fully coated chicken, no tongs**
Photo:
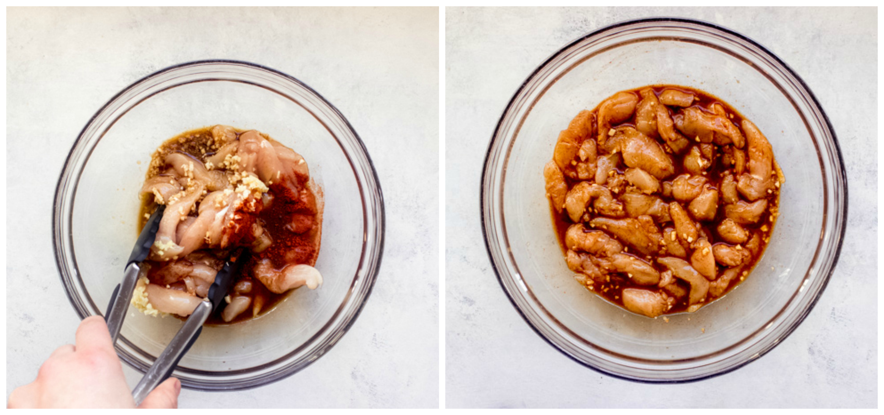
[[[808,303],[808,305],[803,310],[801,310],[799,313],[797,313],[796,319],[789,325],[789,327],[786,328],[786,330],[782,333],[781,336],[779,336],[771,344],[766,345],[766,347],[764,347],[761,351],[758,351],[757,353],[753,354],[751,357],[746,358],[742,362],[738,362],[734,365],[727,366],[724,369],[713,370],[712,373],[705,373],[705,374],[702,374],[699,376],[694,376],[694,377],[690,377],[690,378],[682,378],[682,379],[642,378],[642,377],[629,376],[628,374],[624,374],[624,373],[615,373],[613,371],[608,371],[608,370],[605,370],[601,367],[594,366],[589,362],[583,361],[583,360],[575,357],[575,355],[572,355],[571,353],[569,353],[568,351],[565,351],[562,347],[560,347],[559,344],[554,343],[548,336],[545,336],[541,332],[540,328],[537,327],[537,324],[534,321],[532,321],[528,317],[528,315],[525,313],[525,311],[522,310],[522,308],[517,304],[516,299],[514,298],[513,294],[510,292],[510,290],[507,289],[506,283],[504,283],[504,280],[503,280],[503,277],[501,276],[501,271],[500,271],[499,267],[500,268],[507,268],[507,266],[506,266],[506,264],[499,265],[498,262],[494,258],[494,251],[492,250],[492,244],[490,242],[490,237],[489,237],[489,223],[487,223],[487,219],[486,219],[488,216],[486,216],[487,212],[486,212],[486,206],[485,206],[485,202],[484,202],[485,192],[488,191],[488,189],[485,188],[484,184],[486,182],[486,178],[490,174],[489,162],[492,161],[492,155],[494,153],[495,144],[499,140],[502,140],[502,138],[499,137],[499,133],[501,132],[501,128],[504,124],[504,121],[507,119],[508,113],[510,112],[511,109],[513,109],[516,99],[519,98],[520,94],[522,94],[522,92],[525,90],[525,88],[530,85],[530,81],[532,79],[534,79],[535,76],[537,76],[538,72],[541,72],[542,70],[544,70],[547,64],[550,64],[554,59],[556,59],[557,57],[560,57],[562,54],[567,52],[568,49],[571,49],[575,45],[577,45],[583,41],[586,41],[587,39],[599,36],[601,34],[605,34],[606,32],[612,31],[617,28],[621,28],[621,27],[625,27],[625,26],[636,26],[636,25],[647,24],[647,23],[684,23],[684,24],[690,24],[690,25],[705,26],[705,28],[723,32],[724,34],[735,37],[739,41],[744,41],[744,42],[749,43],[751,46],[757,48],[760,51],[761,55],[769,57],[769,58],[773,59],[773,61],[776,64],[781,65],[781,69],[783,69],[791,77],[793,77],[797,81],[798,86],[801,87],[801,89],[803,89],[804,92],[807,94],[807,96],[810,99],[810,102],[812,104],[812,108],[819,110],[819,115],[821,116],[821,119],[824,122],[824,124],[821,126],[832,137],[832,144],[833,144],[834,156],[835,156],[834,162],[837,163],[837,170],[838,170],[837,171],[838,174],[834,175],[834,177],[835,177],[835,179],[837,179],[838,177],[843,178],[843,180],[841,182],[843,196],[842,196],[840,206],[837,205],[836,203],[833,203],[833,207],[835,210],[838,210],[838,208],[840,207],[841,211],[843,212],[843,215],[841,216],[841,220],[839,221],[839,223],[837,223],[837,226],[840,228],[840,231],[837,233],[837,235],[835,235],[836,242],[834,243],[834,255],[832,256],[831,263],[828,264],[828,269],[826,270],[825,275],[820,275],[820,276],[822,276],[823,281],[819,287],[819,290],[816,292],[816,295],[813,298],[811,298],[811,301]],[[704,45],[704,46],[706,46],[706,45]],[[568,71],[569,70],[567,70],[566,72],[568,72]],[[835,166],[833,166],[833,167],[835,167]],[[836,183],[836,185],[837,185],[837,183]],[[492,133],[491,140],[489,141],[488,149],[485,153],[485,158],[484,158],[484,163],[483,163],[483,168],[482,168],[482,175],[480,177],[479,188],[480,188],[480,193],[479,193],[479,210],[480,210],[480,212],[479,212],[479,214],[480,214],[480,219],[481,219],[481,223],[482,223],[482,236],[483,236],[484,245],[485,245],[485,252],[488,254],[489,261],[491,262],[492,269],[494,270],[494,275],[497,277],[497,280],[498,280],[501,290],[503,290],[504,293],[507,295],[507,299],[509,300],[509,302],[513,306],[513,308],[516,310],[516,312],[519,313],[519,315],[522,317],[522,320],[525,321],[526,323],[528,323],[528,326],[534,331],[534,333],[536,333],[537,336],[540,336],[540,338],[542,338],[546,343],[550,344],[553,349],[560,351],[560,353],[565,355],[567,358],[570,358],[571,360],[575,361],[576,363],[578,363],[582,366],[585,366],[585,367],[589,367],[590,369],[592,369],[593,371],[596,371],[598,373],[603,373],[603,374],[606,374],[608,376],[612,376],[617,379],[622,379],[622,380],[626,380],[626,381],[635,381],[638,383],[660,384],[660,383],[690,383],[690,382],[694,382],[694,381],[703,381],[705,379],[710,379],[710,378],[713,378],[715,376],[719,376],[724,373],[730,373],[740,367],[746,366],[749,363],[751,363],[755,360],[758,360],[758,358],[760,358],[761,356],[764,356],[768,351],[773,350],[773,348],[777,344],[779,344],[783,340],[785,340],[804,321],[804,318],[807,316],[808,313],[811,312],[811,310],[813,309],[813,306],[816,305],[816,303],[819,301],[819,298],[822,296],[822,293],[826,290],[828,282],[831,279],[832,274],[834,273],[834,268],[837,266],[838,260],[840,259],[841,249],[842,249],[842,245],[843,245],[842,243],[843,243],[844,235],[845,235],[846,228],[847,228],[846,224],[847,224],[847,217],[848,217],[848,198],[849,198],[848,183],[847,183],[847,171],[844,166],[841,147],[838,144],[837,136],[834,132],[834,127],[833,127],[831,121],[829,120],[829,117],[827,116],[826,111],[819,104],[819,100],[817,100],[816,95],[813,94],[811,88],[808,87],[807,84],[804,82],[804,79],[802,79],[800,76],[798,76],[798,74],[789,66],[789,64],[786,64],[779,56],[777,56],[771,50],[767,49],[766,47],[764,47],[763,45],[758,43],[758,41],[754,41],[750,37],[748,37],[744,34],[741,34],[739,32],[736,32],[732,29],[729,29],[725,26],[720,26],[720,25],[717,25],[717,24],[714,24],[711,22],[707,22],[705,20],[699,20],[699,19],[687,19],[687,18],[680,18],[680,17],[652,17],[652,18],[622,20],[619,22],[615,22],[611,25],[602,26],[596,30],[591,31],[590,33],[583,34],[580,37],[576,38],[574,41],[568,42],[567,44],[560,47],[560,49],[557,49],[555,52],[553,52],[552,55],[547,57],[542,63],[538,64],[537,67],[534,69],[534,71],[530,72],[528,77],[526,77],[522,81],[521,85],[515,90],[513,96],[507,102],[507,106],[503,109],[501,116],[499,117],[498,123],[495,125],[494,132]],[[837,190],[837,186],[835,186],[835,189]],[[837,200],[835,200],[835,201],[837,201]],[[494,214],[492,213],[492,215],[494,215]],[[823,223],[823,225],[825,228],[825,222]],[[565,329],[570,331],[568,328],[565,328]]]

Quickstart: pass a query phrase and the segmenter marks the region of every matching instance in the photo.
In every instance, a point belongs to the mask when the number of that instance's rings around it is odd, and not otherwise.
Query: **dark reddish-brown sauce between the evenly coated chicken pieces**
[[[743,132],[743,128],[741,127],[741,123],[743,121],[743,116],[738,111],[733,109],[727,102],[724,102],[724,101],[720,100],[718,97],[716,97],[712,94],[708,94],[705,91],[691,88],[691,87],[682,87],[682,86],[674,86],[674,85],[653,85],[653,86],[638,87],[635,89],[630,89],[630,90],[626,90],[626,91],[622,91],[622,92],[628,92],[628,93],[638,95],[639,102],[641,102],[642,98],[641,98],[641,95],[639,94],[639,91],[641,91],[645,88],[648,88],[648,87],[651,87],[653,89],[654,94],[658,96],[658,99],[659,99],[659,95],[662,93],[662,91],[664,89],[675,89],[675,90],[682,91],[685,93],[694,94],[695,99],[694,99],[693,104],[690,105],[690,107],[700,107],[706,113],[713,112],[711,109],[713,104],[716,104],[716,103],[720,104],[726,110],[730,121],[732,123],[734,123],[740,129],[740,132],[743,133],[743,137],[745,137],[745,132]],[[598,116],[598,109],[601,106],[601,104],[602,103],[599,103],[599,105],[595,109],[591,110],[593,116]],[[681,107],[677,107],[677,106],[666,106],[666,107],[667,107],[670,117],[673,117],[680,109],[682,109]],[[595,118],[595,120],[593,122],[597,123],[598,118]],[[611,128],[613,129],[613,128],[617,128],[617,127],[621,127],[621,126],[636,127],[636,112],[634,112],[633,115],[631,117],[629,117],[629,119],[627,119],[626,121],[624,121],[620,124],[612,124]],[[596,128],[598,128],[598,125],[596,125]],[[676,131],[678,131],[678,130],[676,129]],[[596,134],[598,134],[598,132],[594,129],[593,134],[591,134],[591,138],[595,139]],[[680,175],[682,175],[684,173],[688,173],[688,171],[684,167],[684,157],[690,153],[690,147],[693,147],[695,144],[698,144],[696,142],[696,140],[694,140],[693,138],[689,138],[689,139],[690,139],[689,147],[687,147],[687,149],[682,151],[680,155],[674,154],[672,149],[667,147],[666,144],[664,144],[664,143],[666,143],[666,140],[664,140],[661,137],[656,139],[662,145],[662,147],[664,147],[664,149],[667,152],[667,155],[672,157],[673,162],[674,162],[673,163],[674,170],[675,170],[674,174],[672,174],[664,179],[659,180],[659,183],[661,186],[665,182],[668,182],[671,184],[674,181],[675,177],[679,177]],[[718,202],[718,207],[716,209],[715,217],[712,221],[697,221],[693,216],[690,216],[690,218],[692,220],[694,220],[695,223],[699,223],[700,228],[702,229],[700,231],[701,236],[703,235],[703,233],[705,233],[705,236],[707,236],[709,238],[709,242],[711,245],[726,244],[728,246],[735,247],[736,245],[739,245],[739,244],[728,244],[728,243],[724,242],[723,240],[720,239],[719,234],[715,229],[717,224],[719,224],[721,221],[723,221],[725,219],[725,209],[724,209],[725,203],[723,200],[721,200],[722,198],[721,198],[721,194],[720,194],[721,179],[722,179],[723,175],[732,168],[731,165],[727,165],[726,162],[722,161],[722,159],[726,157],[725,153],[722,151],[722,148],[718,145],[715,145],[715,146],[716,146],[715,147],[715,156],[712,160],[712,165],[710,168],[708,168],[706,170],[707,173],[705,174],[705,177],[707,177],[709,179],[709,181],[707,183],[709,185],[712,185],[712,187],[719,192],[719,202]],[[747,153],[747,148],[748,148],[748,144],[743,146],[744,153]],[[598,155],[601,156],[602,154],[603,154],[603,150],[599,146]],[[627,166],[625,166],[621,160],[621,162],[613,170],[616,170],[617,174],[622,175],[622,174],[624,174],[626,169],[627,169]],[[747,170],[748,170],[748,168],[747,168]],[[780,177],[781,182],[785,181],[784,178],[782,178],[783,177],[782,172],[781,172],[779,166],[777,165],[775,159],[773,160],[773,172],[775,175]],[[580,183],[582,181],[580,179],[568,177],[568,175],[565,175],[564,178],[565,178],[566,184],[568,185],[568,190],[572,189],[575,185],[577,185],[578,183]],[[594,183],[594,180],[590,179],[590,182]],[[622,192],[621,192],[621,194],[622,194]],[[613,195],[614,199],[618,199],[618,196],[621,196],[621,194],[614,194]],[[667,204],[672,201],[677,201],[677,200],[674,200],[673,197],[663,197],[662,195],[659,194],[659,192],[655,193],[654,195],[658,196],[661,200],[663,200]],[[739,271],[738,277],[733,278],[730,281],[730,283],[728,284],[727,288],[725,288],[719,296],[713,297],[713,294],[710,292],[708,294],[708,297],[705,299],[705,301],[702,303],[701,306],[708,305],[709,303],[711,303],[715,299],[723,297],[730,290],[733,290],[739,283],[743,282],[743,280],[751,273],[751,270],[753,268],[755,268],[756,264],[758,263],[758,260],[764,254],[764,250],[766,248],[766,245],[770,240],[771,234],[773,233],[773,225],[775,224],[776,218],[779,215],[780,184],[777,183],[775,189],[773,189],[773,192],[771,194],[768,194],[767,197],[763,198],[763,199],[767,200],[768,205],[767,205],[766,211],[761,215],[760,220],[757,223],[742,225],[743,229],[749,230],[752,234],[757,233],[760,236],[760,247],[757,250],[757,254],[751,255],[749,260],[745,260],[743,262],[743,265],[739,266],[739,268],[741,268],[741,269]],[[740,194],[740,200],[744,200],[742,194]],[[565,244],[565,234],[566,234],[566,231],[568,230],[568,228],[575,223],[571,221],[570,217],[568,216],[568,212],[565,209],[562,209],[562,211],[560,213],[556,213],[556,209],[553,207],[553,204],[552,204],[552,199],[549,199],[549,202],[550,202],[550,205],[549,205],[550,206],[550,213],[552,216],[552,225],[553,225],[554,229],[556,230],[556,235],[558,236],[558,239],[559,239],[560,249],[562,250],[562,253],[565,254],[567,257],[568,247]],[[687,210],[687,205],[689,203],[690,202],[683,202],[681,204],[685,208],[685,210]],[[592,205],[590,204],[590,207],[591,206]],[[604,215],[591,215],[591,216],[592,217],[606,217]],[[627,216],[627,217],[629,217],[629,216]],[[656,220],[654,222],[657,225],[657,227],[659,228],[660,232],[663,233],[663,237],[669,238],[669,235],[664,232],[664,229],[673,227],[672,220],[669,220],[666,223],[660,223]],[[588,222],[583,222],[583,224],[584,224],[587,231],[588,230],[602,230],[599,228],[592,228]],[[611,233],[611,232],[606,232],[606,233],[609,237],[618,239],[623,246],[628,246],[628,244],[626,244],[624,241],[621,241],[619,238],[616,238],[613,235],[613,233]],[[745,246],[745,245],[746,244],[742,244],[741,248],[743,248],[743,246]],[[743,249],[745,249],[745,248],[743,248]],[[667,254],[652,253],[652,255],[649,259],[647,256],[643,256],[640,253],[632,252],[632,250],[630,250],[629,247],[628,247],[628,250],[629,250],[629,252],[624,252],[624,253],[635,256],[636,258],[640,258],[642,260],[646,260],[648,263],[650,263],[652,265],[653,268],[655,268],[660,273],[666,271],[667,268],[664,267],[663,265],[659,264],[659,262],[657,262],[657,258],[672,256],[668,253]],[[690,253],[692,252],[692,250],[688,249],[687,251],[688,251],[687,258],[682,258],[682,259],[686,260],[690,263]],[[715,267],[716,267],[716,276],[717,277],[719,277],[724,270],[728,269],[727,267],[722,266],[718,262],[715,263]],[[734,267],[734,268],[738,268],[738,267]],[[613,303],[614,305],[621,306],[622,308],[626,308],[626,306],[624,306],[623,300],[621,298],[622,290],[629,289],[629,288],[645,289],[645,290],[649,289],[649,287],[647,285],[639,285],[639,284],[633,283],[629,279],[629,276],[626,275],[626,273],[609,272],[606,276],[608,279],[605,283],[583,284],[583,287],[586,288],[587,290],[591,290],[592,292],[598,294],[599,296],[601,296],[603,298],[606,298],[609,302]],[[685,283],[684,281],[682,281],[681,279],[678,279],[678,278],[675,278],[674,281],[679,286],[681,286],[682,289],[690,291],[690,284]],[[712,282],[710,282],[710,283],[712,283]],[[651,289],[656,289],[656,288],[657,288],[657,286],[651,287]],[[667,309],[667,311],[664,312],[663,314],[665,315],[665,314],[687,312],[688,307],[689,307],[688,298],[684,297],[681,300],[679,300],[676,304],[672,305],[669,309]]]

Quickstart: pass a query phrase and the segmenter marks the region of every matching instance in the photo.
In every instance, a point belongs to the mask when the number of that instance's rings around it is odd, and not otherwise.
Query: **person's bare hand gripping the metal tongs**
[[[76,346],[65,344],[43,362],[37,379],[12,391],[9,408],[134,408],[123,366],[110,343],[107,324],[92,316],[77,328]],[[181,382],[169,378],[139,408],[178,407]]]

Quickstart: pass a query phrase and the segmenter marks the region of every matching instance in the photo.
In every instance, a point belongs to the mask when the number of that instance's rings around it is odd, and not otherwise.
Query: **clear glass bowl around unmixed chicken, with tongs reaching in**
[[[103,314],[138,237],[138,192],[150,155],[180,132],[229,124],[266,132],[304,156],[324,192],[324,276],[276,309],[207,326],[173,373],[201,390],[278,381],[328,351],[353,324],[377,277],[384,200],[362,140],[331,103],[298,79],[256,64],[179,64],[126,87],[89,120],[58,180],[53,240],[58,271],[80,318]],[[145,372],[183,324],[130,306],[116,344]]]

